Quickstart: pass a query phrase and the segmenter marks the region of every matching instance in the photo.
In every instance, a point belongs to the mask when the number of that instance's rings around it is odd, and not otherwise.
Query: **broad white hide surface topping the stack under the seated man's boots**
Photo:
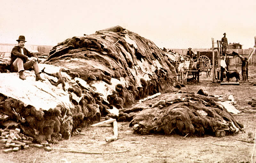
[[[52,69],[51,66],[48,69],[58,72],[60,68],[56,67],[56,69]],[[40,82],[35,80],[34,71],[26,70],[24,71],[24,75],[26,80],[21,80],[18,73],[0,74],[0,93],[22,101],[25,106],[32,105],[36,110],[40,108],[49,110],[59,104],[65,105],[67,108],[72,107],[73,104],[69,101],[69,94],[62,89],[62,84],[56,87],[47,80],[48,78],[54,77],[42,73],[41,76],[46,81]],[[66,83],[66,86],[68,86],[68,83]]]

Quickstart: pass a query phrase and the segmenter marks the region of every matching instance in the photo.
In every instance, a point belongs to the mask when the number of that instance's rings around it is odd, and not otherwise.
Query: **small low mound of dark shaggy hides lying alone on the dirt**
[[[243,125],[217,98],[180,92],[161,99],[135,114],[130,122],[135,133],[204,136],[217,130],[225,130],[226,135],[242,131]]]

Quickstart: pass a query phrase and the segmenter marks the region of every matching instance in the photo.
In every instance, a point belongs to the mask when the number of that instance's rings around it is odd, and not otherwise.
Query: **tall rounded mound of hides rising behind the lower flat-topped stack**
[[[44,63],[79,75],[118,109],[157,92],[173,91],[176,82],[164,52],[120,26],[68,38],[53,47]]]

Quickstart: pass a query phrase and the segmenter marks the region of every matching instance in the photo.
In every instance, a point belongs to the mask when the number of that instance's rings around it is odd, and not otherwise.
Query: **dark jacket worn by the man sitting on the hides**
[[[35,53],[30,53],[26,48],[23,48],[23,54],[21,54],[21,49],[19,46],[14,46],[12,48],[12,52],[11,52],[11,68],[12,68],[12,63],[15,61],[15,59],[17,58],[21,58],[23,60],[23,63],[26,63],[26,60],[29,57],[36,57]]]

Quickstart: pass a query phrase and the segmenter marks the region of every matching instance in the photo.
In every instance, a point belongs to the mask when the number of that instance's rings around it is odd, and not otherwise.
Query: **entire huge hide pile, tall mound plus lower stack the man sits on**
[[[34,71],[10,73],[1,54],[1,128],[21,128],[35,140],[69,138],[76,128],[98,122],[158,92],[172,92],[176,72],[152,41],[120,26],[58,43]],[[134,115],[129,117],[132,119]]]

